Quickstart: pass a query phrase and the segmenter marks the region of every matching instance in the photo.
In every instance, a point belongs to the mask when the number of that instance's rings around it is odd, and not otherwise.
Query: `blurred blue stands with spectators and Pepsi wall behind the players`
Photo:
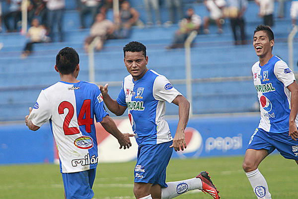
[[[33,132],[24,118],[41,89],[60,80],[55,57],[66,46],[79,54],[78,79],[109,83],[113,99],[128,75],[123,47],[130,41],[147,46],[148,68],[166,76],[191,102],[188,148],[174,158],[245,153],[260,119],[251,74],[258,61],[252,46],[257,25],[272,27],[273,54],[297,71],[290,0],[269,5],[253,0],[51,1],[0,1],[0,164],[59,162],[49,124]],[[166,118],[174,133],[176,105],[167,104]],[[120,130],[131,131],[126,116],[115,119]],[[133,150],[120,152],[116,140],[100,124],[96,128],[100,161],[136,159],[135,142]]]

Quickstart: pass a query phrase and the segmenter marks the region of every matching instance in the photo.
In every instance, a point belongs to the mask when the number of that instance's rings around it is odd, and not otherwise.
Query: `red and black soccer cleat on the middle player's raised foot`
[[[202,171],[199,175],[196,176],[196,178],[199,178],[202,180],[202,192],[205,194],[210,194],[214,199],[220,199],[219,191],[217,188],[213,185],[209,173],[206,171]]]

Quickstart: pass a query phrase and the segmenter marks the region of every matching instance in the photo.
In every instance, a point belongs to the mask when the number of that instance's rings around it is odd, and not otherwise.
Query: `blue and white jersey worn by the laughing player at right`
[[[264,66],[256,62],[252,66],[252,74],[260,102],[261,120],[258,128],[272,133],[288,132],[291,92],[287,87],[295,81],[294,73],[286,62],[273,56]]]

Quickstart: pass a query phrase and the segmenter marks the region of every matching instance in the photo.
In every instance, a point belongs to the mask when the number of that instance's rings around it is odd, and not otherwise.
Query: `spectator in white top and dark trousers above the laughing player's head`
[[[259,16],[263,17],[263,24],[273,26],[274,0],[255,0],[259,5]]]

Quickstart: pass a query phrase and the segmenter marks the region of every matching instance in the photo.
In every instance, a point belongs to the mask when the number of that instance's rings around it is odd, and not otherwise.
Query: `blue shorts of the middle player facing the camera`
[[[173,152],[173,148],[169,148],[172,143],[173,141],[139,146],[135,167],[135,183],[151,183],[167,187],[165,174]]]

